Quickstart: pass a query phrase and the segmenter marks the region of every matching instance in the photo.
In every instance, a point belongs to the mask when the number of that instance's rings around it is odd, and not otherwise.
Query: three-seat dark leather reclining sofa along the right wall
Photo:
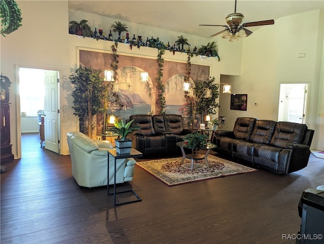
[[[305,124],[237,118],[233,131],[215,130],[216,151],[276,173],[307,166],[314,130]]]

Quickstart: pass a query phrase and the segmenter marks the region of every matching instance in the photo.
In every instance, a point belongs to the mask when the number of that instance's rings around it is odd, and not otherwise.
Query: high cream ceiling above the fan
[[[69,1],[69,9],[89,12],[121,21],[145,24],[208,38],[221,31],[225,17],[234,13],[235,0],[223,1]],[[263,1],[237,0],[236,12],[242,13],[242,23],[278,19],[306,11],[324,9],[324,1]],[[251,31],[259,27],[249,27]]]

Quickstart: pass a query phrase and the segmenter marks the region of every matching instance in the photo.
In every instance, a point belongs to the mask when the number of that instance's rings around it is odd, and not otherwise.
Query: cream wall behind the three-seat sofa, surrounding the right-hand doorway
[[[237,117],[277,120],[280,83],[308,83],[306,124],[315,130],[312,148],[324,149],[322,16],[315,10],[280,18],[239,40],[241,75],[222,76],[222,82],[232,85],[232,93],[248,94],[248,106],[247,111],[230,110],[229,95],[221,94],[220,115],[227,117],[230,129]],[[305,58],[298,58],[298,53],[305,53]]]

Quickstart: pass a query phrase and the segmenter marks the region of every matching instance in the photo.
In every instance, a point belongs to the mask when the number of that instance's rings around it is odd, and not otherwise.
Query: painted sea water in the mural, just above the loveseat
[[[166,110],[167,114],[180,114],[179,108],[181,105],[168,105]],[[135,114],[148,114],[151,112],[150,104],[134,104],[133,108],[127,108],[126,110],[118,110],[114,112],[114,115],[118,115],[123,119],[129,119],[131,115]]]

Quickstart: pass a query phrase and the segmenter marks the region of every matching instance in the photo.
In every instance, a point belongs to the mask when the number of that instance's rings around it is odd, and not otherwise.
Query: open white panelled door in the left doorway
[[[46,71],[45,85],[45,149],[59,152],[59,104],[58,104],[58,72]]]

